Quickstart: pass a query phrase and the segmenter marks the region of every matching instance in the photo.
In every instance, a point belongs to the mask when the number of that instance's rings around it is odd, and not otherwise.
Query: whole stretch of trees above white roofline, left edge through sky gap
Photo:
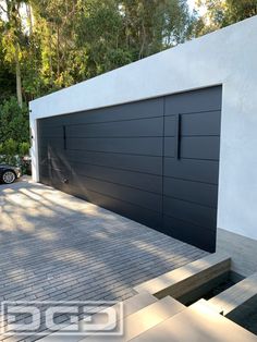
[[[186,0],[0,0],[0,14],[19,102],[182,42],[194,20]]]

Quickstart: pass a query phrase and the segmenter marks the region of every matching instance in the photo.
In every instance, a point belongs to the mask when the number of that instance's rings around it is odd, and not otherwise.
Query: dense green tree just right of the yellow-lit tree
[[[118,1],[84,1],[76,25],[76,46],[86,57],[85,78],[133,60],[132,53],[124,48]]]

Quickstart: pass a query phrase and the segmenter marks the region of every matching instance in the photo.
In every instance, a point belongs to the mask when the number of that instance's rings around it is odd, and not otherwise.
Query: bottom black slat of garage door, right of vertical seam
[[[185,221],[164,216],[161,231],[175,239],[195,245],[198,248],[211,253],[216,251],[216,230],[194,225],[192,223],[188,224]]]

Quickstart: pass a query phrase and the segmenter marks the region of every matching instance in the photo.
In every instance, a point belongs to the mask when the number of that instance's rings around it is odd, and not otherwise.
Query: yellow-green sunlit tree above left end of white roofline
[[[74,28],[79,10],[77,0],[33,1],[34,29],[40,46],[39,77],[45,93],[81,81],[86,59],[75,46]]]

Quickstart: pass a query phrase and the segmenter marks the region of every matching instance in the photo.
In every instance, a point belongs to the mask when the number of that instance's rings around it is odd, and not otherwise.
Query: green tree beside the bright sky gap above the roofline
[[[137,58],[183,42],[193,17],[186,0],[124,0],[125,36]]]

